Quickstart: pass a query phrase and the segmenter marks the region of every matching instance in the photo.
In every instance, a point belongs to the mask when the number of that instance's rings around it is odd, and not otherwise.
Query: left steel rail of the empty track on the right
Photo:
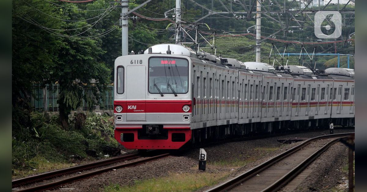
[[[315,140],[319,140],[319,139],[327,139],[327,138],[334,138],[334,137],[343,137],[343,136],[348,136],[351,133],[338,133],[338,134],[332,134],[332,135],[323,135],[323,136],[318,136],[315,138],[311,138],[306,140],[305,142],[299,144],[298,146],[295,146],[293,148],[291,148],[290,150],[284,151],[283,153],[277,155],[274,158],[269,159],[268,161],[261,163],[260,165],[248,170],[247,172],[231,179],[228,180],[214,188],[211,188],[209,190],[207,190],[207,192],[218,192],[218,191],[229,191],[230,189],[233,189],[235,187],[237,187],[238,185],[241,185],[241,183],[243,183],[244,181],[256,176],[256,174],[264,171],[265,169],[268,169],[270,166],[274,165],[275,163],[281,161],[282,159],[288,157],[289,155],[301,150],[303,147],[307,146],[308,144],[310,144],[311,142],[315,141]],[[338,139],[339,139],[338,138]]]

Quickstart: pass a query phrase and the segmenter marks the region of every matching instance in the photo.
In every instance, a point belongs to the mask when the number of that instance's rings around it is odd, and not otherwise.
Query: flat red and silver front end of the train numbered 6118
[[[191,139],[191,60],[163,47],[115,60],[115,138],[127,149],[178,149]]]

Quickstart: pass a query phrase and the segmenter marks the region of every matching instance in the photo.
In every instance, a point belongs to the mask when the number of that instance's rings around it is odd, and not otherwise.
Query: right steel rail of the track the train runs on
[[[68,177],[68,178],[65,178],[65,179],[62,179],[62,180],[59,180],[59,181],[50,182],[50,183],[43,184],[43,185],[37,185],[37,186],[34,186],[34,187],[21,189],[21,190],[18,190],[17,192],[40,191],[40,190],[44,190],[44,189],[48,189],[48,188],[53,188],[53,187],[57,187],[58,185],[61,185],[61,184],[65,184],[65,183],[68,183],[68,182],[73,182],[73,181],[79,180],[81,178],[94,176],[94,175],[97,175],[97,174],[100,174],[100,173],[103,173],[103,172],[110,171],[112,169],[119,169],[119,168],[122,168],[122,167],[135,166],[135,165],[139,165],[141,163],[145,163],[145,162],[148,162],[148,161],[153,161],[155,159],[160,159],[160,158],[163,158],[163,157],[167,157],[168,155],[170,155],[170,154],[166,153],[166,154],[161,154],[161,155],[157,155],[157,156],[154,156],[154,157],[149,157],[149,158],[138,160],[138,161],[123,163],[123,164],[112,166],[112,167],[98,169],[98,170],[95,170],[95,171],[92,171],[92,172],[76,175],[76,176],[73,176],[73,177]]]

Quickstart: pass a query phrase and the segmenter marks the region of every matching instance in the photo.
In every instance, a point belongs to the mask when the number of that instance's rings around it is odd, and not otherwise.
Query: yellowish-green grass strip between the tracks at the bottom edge
[[[152,178],[143,181],[135,181],[132,186],[120,186],[119,184],[111,184],[104,188],[106,192],[159,192],[159,191],[196,191],[205,186],[210,186],[218,183],[223,177],[227,176],[229,172],[225,173],[175,173],[168,177]]]

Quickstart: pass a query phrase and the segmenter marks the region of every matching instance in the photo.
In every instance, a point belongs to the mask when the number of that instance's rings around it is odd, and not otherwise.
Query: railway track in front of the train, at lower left
[[[149,153],[153,153],[153,151],[155,150],[148,151],[146,155],[148,155]],[[13,180],[12,188],[13,188],[13,191],[17,191],[17,192],[38,191],[38,190],[43,190],[43,189],[49,189],[49,188],[53,188],[61,184],[79,180],[81,178],[86,178],[86,177],[97,175],[99,173],[107,172],[112,169],[119,169],[122,167],[135,166],[135,165],[139,165],[141,163],[145,163],[148,161],[153,161],[155,159],[167,157],[168,155],[169,153],[164,153],[164,154],[160,153],[158,155],[153,155],[152,157],[144,158],[144,159],[137,160],[137,161],[132,161],[128,163],[119,163],[119,162],[124,162],[124,161],[142,157],[139,153],[124,155],[121,157],[110,158],[110,159],[106,159],[103,161],[87,163],[84,165],[69,167],[66,169],[55,170],[52,172],[42,173],[42,174],[30,176],[30,177]],[[111,164],[114,164],[114,165],[111,165]],[[101,167],[101,168],[98,169],[98,167]],[[91,169],[95,169],[95,170],[91,170]],[[85,170],[91,170],[91,171],[75,175],[75,173],[85,171]],[[70,177],[65,177],[61,179],[56,178],[56,177],[65,176],[65,175],[70,175]],[[51,181],[52,178],[55,178],[55,179]],[[39,184],[37,185],[36,183],[39,183]],[[29,184],[32,184],[32,186],[25,187],[26,185],[29,185]],[[17,190],[17,188],[19,188],[19,190]]]

